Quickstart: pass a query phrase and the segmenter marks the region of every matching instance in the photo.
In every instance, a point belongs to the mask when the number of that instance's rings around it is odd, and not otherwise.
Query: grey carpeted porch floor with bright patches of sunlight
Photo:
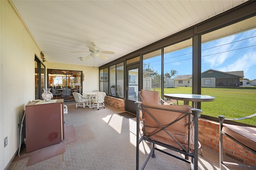
[[[76,142],[66,144],[66,151],[28,166],[29,158],[11,162],[8,170],[134,170],[136,169],[136,118],[120,116],[120,110],[105,105],[99,110],[86,107],[75,109],[76,103],[65,103],[68,114],[64,125],[74,126]],[[151,148],[140,145],[140,166]],[[204,147],[199,156],[199,170],[218,170],[218,152]],[[174,152],[174,154],[176,154]],[[226,157],[225,157],[226,158]],[[230,160],[227,158],[226,161]],[[145,170],[189,170],[190,165],[156,152]],[[239,170],[241,168],[238,168]],[[232,170],[238,170],[232,168]]]

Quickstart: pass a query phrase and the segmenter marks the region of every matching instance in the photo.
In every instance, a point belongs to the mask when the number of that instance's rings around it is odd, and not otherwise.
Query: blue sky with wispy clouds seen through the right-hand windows
[[[164,59],[164,73],[173,69],[178,75],[192,74],[192,47],[165,54]],[[144,63],[161,73],[160,62],[158,56]],[[208,69],[244,71],[244,78],[256,79],[256,29],[203,43],[202,72]]]

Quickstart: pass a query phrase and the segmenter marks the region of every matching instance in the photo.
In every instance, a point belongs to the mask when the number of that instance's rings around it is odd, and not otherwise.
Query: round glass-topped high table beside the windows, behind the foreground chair
[[[184,101],[184,105],[189,105],[189,102],[192,101],[192,107],[196,108],[197,102],[208,102],[214,101],[215,97],[208,95],[195,95],[195,94],[182,94],[182,93],[170,93],[165,94],[164,97],[174,100]]]

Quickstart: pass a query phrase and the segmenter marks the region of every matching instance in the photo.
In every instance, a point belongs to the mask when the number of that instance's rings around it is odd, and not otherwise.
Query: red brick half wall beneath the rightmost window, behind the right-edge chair
[[[208,119],[199,120],[199,140],[202,146],[209,147],[219,152],[219,123]],[[224,154],[247,165],[256,165],[256,155],[237,144],[226,136],[223,136]],[[204,152],[204,151],[203,151]],[[225,160],[224,160],[225,161]]]

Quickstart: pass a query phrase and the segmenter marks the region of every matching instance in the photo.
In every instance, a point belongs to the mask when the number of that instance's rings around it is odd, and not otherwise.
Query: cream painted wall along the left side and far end
[[[35,98],[34,57],[40,47],[7,0],[0,1],[0,170],[6,168],[19,148],[22,112]],[[47,54],[45,53],[47,60]],[[99,88],[97,67],[47,63],[46,69],[83,71],[83,92]],[[47,77],[46,77],[47,78]],[[47,81],[45,81],[47,82]],[[4,147],[4,138],[8,145]]]

